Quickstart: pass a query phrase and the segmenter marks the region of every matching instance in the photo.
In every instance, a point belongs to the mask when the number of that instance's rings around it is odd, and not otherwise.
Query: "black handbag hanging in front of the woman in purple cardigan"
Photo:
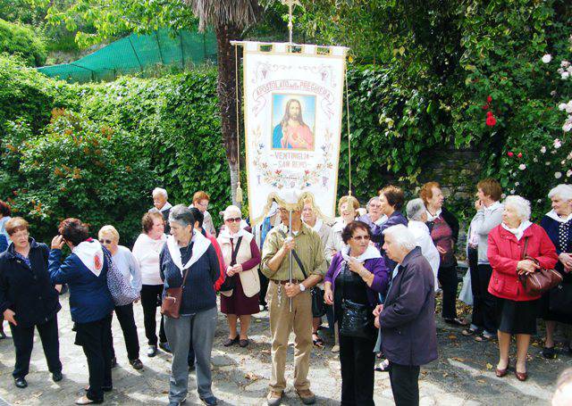
[[[347,263],[341,271],[349,272]],[[340,287],[341,297],[343,297],[343,283]],[[374,339],[374,315],[370,306],[342,299],[341,313],[341,336]]]

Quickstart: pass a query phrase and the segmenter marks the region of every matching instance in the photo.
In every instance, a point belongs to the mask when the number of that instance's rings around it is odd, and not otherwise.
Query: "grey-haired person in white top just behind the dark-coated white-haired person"
[[[431,265],[435,276],[435,290],[439,287],[437,272],[439,271],[439,251],[433,243],[429,228],[425,224],[427,221],[427,209],[423,199],[410,200],[405,208],[408,215],[408,229],[415,236],[416,245],[421,248],[421,253]]]

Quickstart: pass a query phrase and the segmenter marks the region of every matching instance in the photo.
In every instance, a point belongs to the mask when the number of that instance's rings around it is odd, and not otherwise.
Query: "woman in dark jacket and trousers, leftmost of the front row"
[[[47,271],[49,250],[29,236],[28,221],[15,217],[5,228],[12,240],[0,254],[0,312],[10,324],[16,365],[14,384],[28,386],[29,358],[34,344],[34,328],[42,340],[47,368],[54,382],[62,380],[57,312],[62,306]]]

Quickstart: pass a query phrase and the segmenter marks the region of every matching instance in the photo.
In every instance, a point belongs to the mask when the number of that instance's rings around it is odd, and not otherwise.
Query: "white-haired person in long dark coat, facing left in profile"
[[[383,231],[383,250],[398,265],[383,304],[375,308],[397,406],[419,404],[419,369],[437,359],[433,269],[403,224]]]

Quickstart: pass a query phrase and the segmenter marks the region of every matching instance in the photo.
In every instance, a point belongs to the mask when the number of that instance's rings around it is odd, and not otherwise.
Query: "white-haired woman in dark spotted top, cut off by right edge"
[[[541,301],[541,315],[546,322],[543,356],[553,359],[556,357],[553,338],[556,322],[572,324],[569,304],[572,302],[572,185],[553,187],[548,197],[551,199],[552,210],[546,213],[540,225],[556,247],[559,261],[555,269],[564,277],[558,294],[546,293]],[[572,353],[570,344],[568,352]]]

